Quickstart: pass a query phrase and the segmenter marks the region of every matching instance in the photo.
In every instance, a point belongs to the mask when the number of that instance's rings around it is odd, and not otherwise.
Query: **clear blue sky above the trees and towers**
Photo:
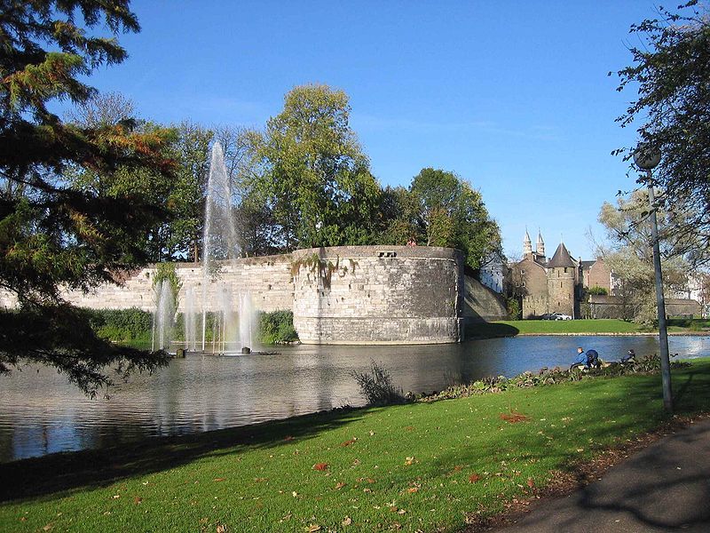
[[[383,185],[422,167],[480,189],[507,252],[525,227],[592,259],[604,201],[633,187],[611,150],[635,98],[607,76],[631,62],[638,1],[134,0],[130,57],[91,77],[162,123],[262,127],[298,84],[351,98],[351,126]]]

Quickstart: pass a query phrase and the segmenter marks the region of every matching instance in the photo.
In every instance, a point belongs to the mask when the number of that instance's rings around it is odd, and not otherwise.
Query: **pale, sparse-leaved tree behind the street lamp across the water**
[[[598,253],[611,269],[616,282],[612,292],[627,309],[627,317],[654,325],[658,321],[658,310],[649,209],[649,196],[643,189],[635,191],[629,198],[619,197],[616,206],[604,203],[599,222],[607,231],[611,247],[601,248]],[[674,240],[668,238],[677,235],[676,217],[665,211],[659,211],[657,215],[664,289],[673,293],[688,282],[689,266],[681,253],[685,246],[675,248]]]

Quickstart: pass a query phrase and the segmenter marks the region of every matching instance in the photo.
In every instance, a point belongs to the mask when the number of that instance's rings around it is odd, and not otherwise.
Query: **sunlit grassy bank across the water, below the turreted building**
[[[466,327],[467,337],[501,337],[526,334],[633,334],[651,332],[634,322],[616,319],[597,320],[511,320],[501,322],[480,322]],[[670,333],[700,333],[710,334],[710,320],[703,319],[670,319]]]

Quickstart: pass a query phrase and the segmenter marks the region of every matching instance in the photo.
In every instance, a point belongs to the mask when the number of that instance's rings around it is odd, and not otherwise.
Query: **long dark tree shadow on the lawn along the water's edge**
[[[206,455],[272,448],[362,418],[368,408],[344,408],[184,436],[158,437],[105,449],[65,452],[0,464],[0,502],[106,486],[157,473]]]

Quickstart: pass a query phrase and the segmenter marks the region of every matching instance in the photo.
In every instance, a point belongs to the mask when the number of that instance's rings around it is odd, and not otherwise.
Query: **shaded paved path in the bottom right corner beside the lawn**
[[[710,531],[710,420],[655,442],[600,481],[499,533]]]

